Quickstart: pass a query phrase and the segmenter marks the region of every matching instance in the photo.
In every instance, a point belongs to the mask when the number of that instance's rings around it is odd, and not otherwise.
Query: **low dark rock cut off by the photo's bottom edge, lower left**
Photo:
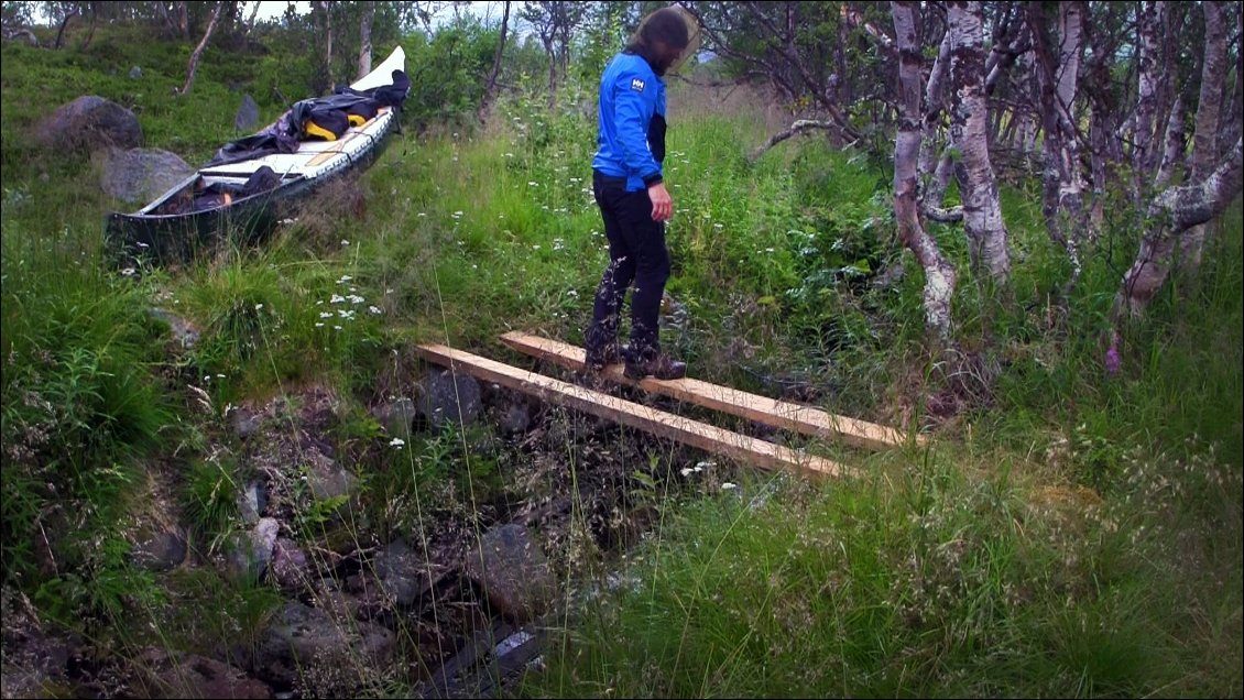
[[[134,698],[271,698],[272,689],[229,664],[148,648],[134,668]]]

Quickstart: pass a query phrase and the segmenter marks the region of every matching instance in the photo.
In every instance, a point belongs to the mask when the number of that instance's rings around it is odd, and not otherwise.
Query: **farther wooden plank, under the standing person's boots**
[[[583,367],[585,352],[580,347],[521,331],[505,333],[501,336],[501,341],[519,352],[549,359],[575,371]],[[699,379],[662,380],[648,377],[636,382],[627,378],[622,369],[621,364],[613,364],[605,368],[603,375],[613,382],[639,387],[654,394],[673,397],[765,425],[796,430],[805,435],[841,440],[857,448],[880,450],[907,441],[907,438],[893,428],[836,415],[819,408],[771,399],[719,384],[709,384]],[[923,435],[917,435],[916,440],[917,444],[926,443]]]

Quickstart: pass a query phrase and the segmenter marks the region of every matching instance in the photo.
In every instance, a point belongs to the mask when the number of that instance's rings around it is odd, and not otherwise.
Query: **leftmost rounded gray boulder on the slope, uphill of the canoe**
[[[44,148],[90,153],[100,148],[137,148],[143,144],[143,129],[129,109],[86,94],[49,114],[35,138]]]

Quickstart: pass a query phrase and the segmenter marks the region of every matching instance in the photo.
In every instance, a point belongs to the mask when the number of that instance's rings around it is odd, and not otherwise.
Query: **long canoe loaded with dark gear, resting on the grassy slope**
[[[168,266],[223,244],[260,242],[323,184],[383,152],[408,92],[398,46],[348,90],[294,104],[141,210],[108,213],[106,251],[118,266]]]

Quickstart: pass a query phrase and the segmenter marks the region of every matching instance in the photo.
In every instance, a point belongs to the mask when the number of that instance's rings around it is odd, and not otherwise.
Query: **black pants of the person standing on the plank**
[[[632,359],[652,358],[661,351],[657,323],[661,298],[669,279],[666,225],[652,220],[648,190],[626,191],[624,178],[592,173],[592,191],[610,240],[610,265],[596,290],[592,325],[587,327],[583,342],[588,353],[600,352],[616,342],[622,300],[634,282],[628,354]]]

